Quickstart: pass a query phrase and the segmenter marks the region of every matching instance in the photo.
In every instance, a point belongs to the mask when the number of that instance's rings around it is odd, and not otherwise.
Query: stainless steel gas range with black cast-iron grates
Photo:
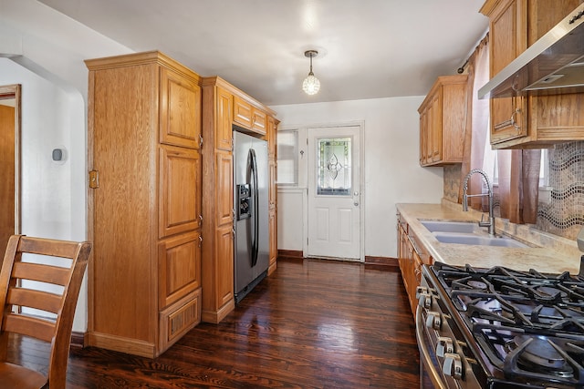
[[[435,262],[417,292],[436,388],[584,388],[583,276]]]

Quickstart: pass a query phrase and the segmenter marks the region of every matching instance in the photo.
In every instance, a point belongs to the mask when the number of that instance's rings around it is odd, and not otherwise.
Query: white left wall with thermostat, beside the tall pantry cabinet
[[[130,53],[35,0],[0,0],[0,85],[22,85],[22,233],[87,239],[84,59]],[[66,159],[51,159],[65,148]],[[87,282],[73,331],[87,329]]]

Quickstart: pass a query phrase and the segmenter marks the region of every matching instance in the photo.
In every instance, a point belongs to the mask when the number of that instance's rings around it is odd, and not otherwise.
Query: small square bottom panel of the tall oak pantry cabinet
[[[161,353],[201,322],[201,288],[160,312]]]

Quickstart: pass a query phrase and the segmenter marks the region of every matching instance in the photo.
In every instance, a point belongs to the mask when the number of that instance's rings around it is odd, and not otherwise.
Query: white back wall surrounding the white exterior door
[[[396,257],[395,204],[439,203],[443,169],[421,168],[419,114],[423,97],[391,97],[272,106],[279,128],[362,121],[365,131],[365,255]],[[301,203],[301,202],[300,202]],[[278,249],[302,251],[297,195],[278,190]],[[299,246],[296,246],[299,244]]]

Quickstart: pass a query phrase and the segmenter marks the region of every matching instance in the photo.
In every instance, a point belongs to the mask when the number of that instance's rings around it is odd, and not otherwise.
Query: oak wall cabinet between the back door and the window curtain
[[[443,166],[463,161],[467,77],[438,77],[418,108],[420,165]]]

